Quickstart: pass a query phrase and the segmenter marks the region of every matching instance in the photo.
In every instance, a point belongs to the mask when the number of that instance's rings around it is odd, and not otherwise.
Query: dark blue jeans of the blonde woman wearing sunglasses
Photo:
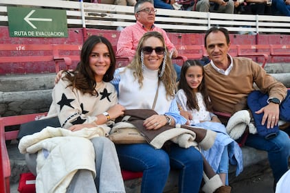
[[[170,168],[179,170],[179,193],[199,192],[203,174],[203,158],[193,148],[176,144],[155,149],[149,144],[116,145],[122,169],[143,172],[142,193],[162,193]]]

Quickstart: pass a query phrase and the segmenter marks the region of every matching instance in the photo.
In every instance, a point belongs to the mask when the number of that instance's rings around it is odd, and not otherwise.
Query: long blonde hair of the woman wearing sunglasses
[[[168,53],[168,50],[165,45],[164,38],[162,34],[159,32],[146,32],[140,39],[138,46],[137,46],[137,51],[136,54],[132,60],[132,62],[127,66],[129,69],[133,69],[134,73],[133,76],[138,79],[138,82],[140,84],[140,87],[142,87],[142,81],[144,79],[143,73],[142,73],[142,62],[141,62],[141,51],[143,48],[143,43],[150,37],[155,37],[159,38],[159,40],[162,42],[163,46],[165,47],[165,52],[164,52],[164,58],[165,58],[165,69],[164,73],[161,77],[159,77],[159,80],[164,83],[164,87],[166,89],[166,95],[169,97],[172,97],[175,95],[175,89],[176,89],[176,72],[175,69],[172,66],[171,63],[171,58],[170,54]],[[166,57],[165,57],[166,56]],[[164,61],[162,61],[161,65],[159,66],[159,74],[162,71],[162,64]]]

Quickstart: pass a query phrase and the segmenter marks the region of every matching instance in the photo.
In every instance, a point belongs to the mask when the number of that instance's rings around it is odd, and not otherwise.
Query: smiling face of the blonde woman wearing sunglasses
[[[144,53],[144,65],[150,70],[157,70],[162,63],[164,58],[164,54],[156,54],[157,47],[158,49],[161,47],[163,48],[164,45],[159,38],[150,37],[143,42],[142,47],[152,47],[153,51],[149,54],[148,52],[143,51]],[[158,51],[157,49],[157,51]]]

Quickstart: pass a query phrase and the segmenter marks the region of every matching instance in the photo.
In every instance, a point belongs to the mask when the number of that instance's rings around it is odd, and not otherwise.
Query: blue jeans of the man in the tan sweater
[[[288,171],[288,158],[290,155],[289,135],[280,130],[277,137],[265,139],[259,135],[250,134],[245,146],[265,150],[268,152],[270,167],[273,172],[274,181],[277,183],[280,177]]]

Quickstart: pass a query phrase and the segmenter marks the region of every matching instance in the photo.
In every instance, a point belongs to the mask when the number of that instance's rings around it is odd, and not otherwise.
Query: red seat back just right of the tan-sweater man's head
[[[263,57],[262,67],[264,68],[267,60],[268,55],[265,50],[269,50],[269,45],[236,45],[237,48],[237,56],[256,56],[256,57]]]

